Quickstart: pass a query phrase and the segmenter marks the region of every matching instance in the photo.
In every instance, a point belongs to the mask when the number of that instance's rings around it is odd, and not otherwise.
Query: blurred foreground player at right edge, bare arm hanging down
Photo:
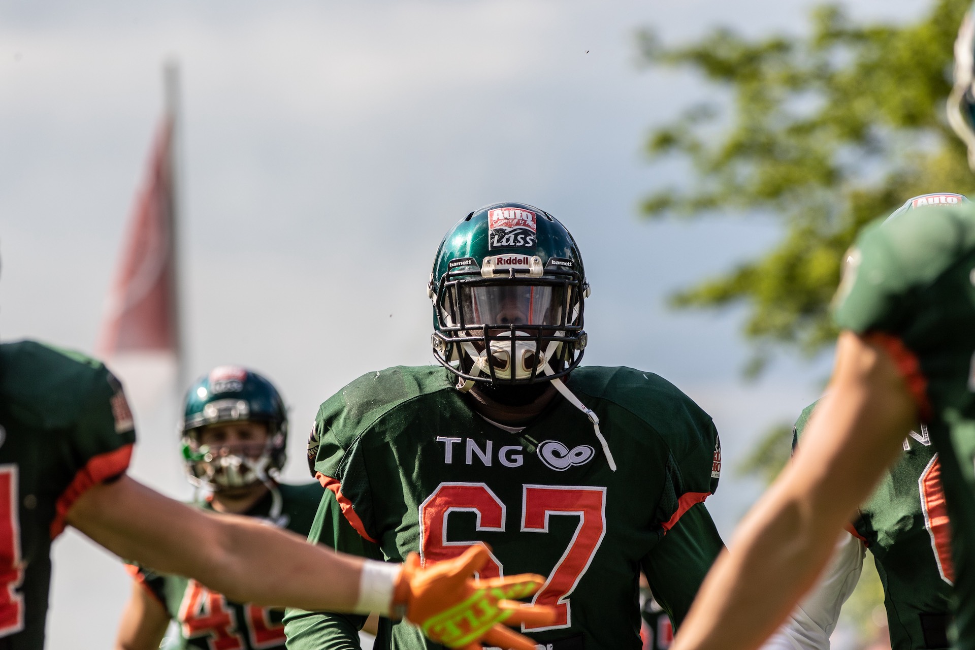
[[[949,112],[970,147],[973,52],[969,13]],[[805,444],[705,581],[678,650],[757,647],[811,586],[918,420],[939,454],[940,516],[951,515],[953,640],[975,648],[975,209],[925,207],[868,225],[846,255],[834,303],[841,332],[830,390]]]

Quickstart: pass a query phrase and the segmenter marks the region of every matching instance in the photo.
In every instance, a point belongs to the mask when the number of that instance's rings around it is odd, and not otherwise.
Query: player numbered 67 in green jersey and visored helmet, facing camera
[[[460,219],[428,285],[440,364],[370,372],[319,410],[309,461],[328,491],[309,540],[397,561],[489,545],[482,576],[545,576],[533,602],[557,619],[522,631],[546,650],[641,648],[641,570],[680,625],[722,549],[703,503],[718,434],[659,376],[579,364],[589,292],[548,212]],[[359,647],[363,617],[285,621],[290,650]],[[384,621],[375,647],[437,646]]]

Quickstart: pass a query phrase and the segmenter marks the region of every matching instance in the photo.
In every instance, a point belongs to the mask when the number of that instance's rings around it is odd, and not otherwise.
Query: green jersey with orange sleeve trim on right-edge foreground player
[[[939,452],[951,514],[956,644],[975,648],[975,208],[909,210],[860,234],[835,302],[837,324],[898,363]],[[935,545],[939,556],[943,545]]]

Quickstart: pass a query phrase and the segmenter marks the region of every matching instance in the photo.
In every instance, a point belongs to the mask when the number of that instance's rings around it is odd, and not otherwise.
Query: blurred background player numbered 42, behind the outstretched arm
[[[274,385],[248,368],[222,365],[186,393],[182,451],[191,483],[206,490],[199,508],[259,517],[306,537],[322,486],[278,482],[285,464],[288,414]],[[156,650],[171,620],[179,647],[219,642],[239,650],[284,650],[284,611],[228,601],[195,580],[131,565],[132,597],[122,616],[119,650]]]

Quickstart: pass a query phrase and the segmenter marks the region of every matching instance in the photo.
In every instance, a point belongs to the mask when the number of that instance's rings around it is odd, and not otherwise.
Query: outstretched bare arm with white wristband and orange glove
[[[387,614],[390,610],[449,647],[479,641],[534,650],[525,636],[500,625],[545,624],[555,610],[522,606],[541,576],[478,581],[485,547],[419,566],[364,560],[312,544],[253,517],[204,513],[123,476],[89,488],[67,521],[114,554],[163,573],[191,577],[231,600],[309,610]]]

